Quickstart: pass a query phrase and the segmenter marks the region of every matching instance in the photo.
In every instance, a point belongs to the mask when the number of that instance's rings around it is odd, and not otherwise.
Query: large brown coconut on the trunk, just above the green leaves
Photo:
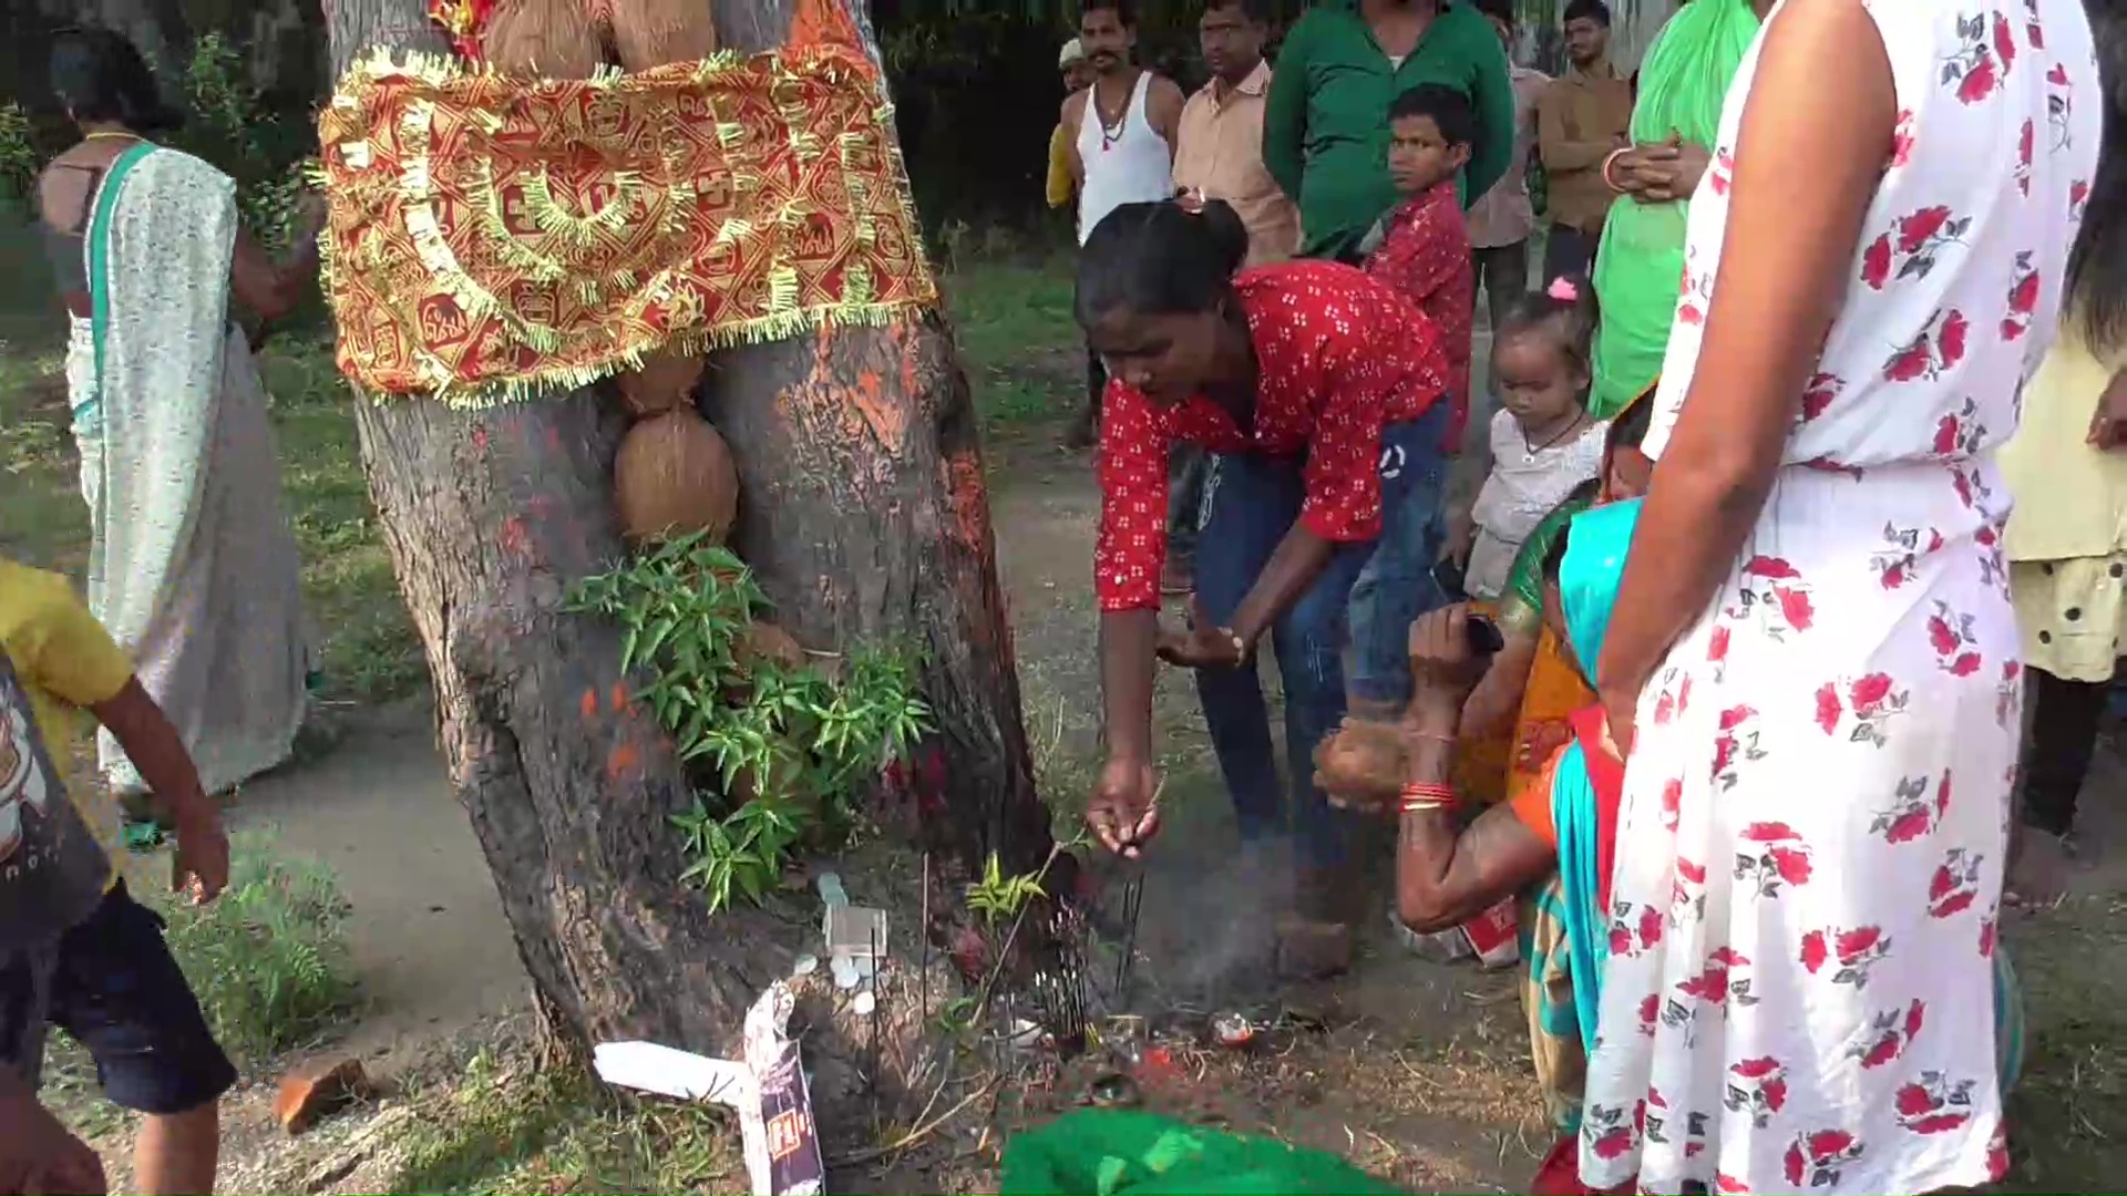
[[[723,543],[738,515],[732,449],[691,406],[638,419],[613,462],[613,498],[630,541],[702,532]]]

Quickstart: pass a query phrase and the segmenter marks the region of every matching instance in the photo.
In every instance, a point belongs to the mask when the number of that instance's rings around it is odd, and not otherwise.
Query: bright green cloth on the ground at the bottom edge
[[[1004,1145],[1000,1196],[1395,1196],[1334,1153],[1078,1109]]]

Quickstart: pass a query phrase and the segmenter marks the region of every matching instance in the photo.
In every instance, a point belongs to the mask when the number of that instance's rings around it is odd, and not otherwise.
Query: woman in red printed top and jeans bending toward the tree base
[[[1342,815],[1308,760],[1344,717],[1393,719],[1410,698],[1408,628],[1438,607],[1448,430],[1446,360],[1402,294],[1336,262],[1242,272],[1246,232],[1223,202],[1125,204],[1078,255],[1078,323],[1108,362],[1095,551],[1108,762],[1087,819],[1136,856],[1153,804],[1153,662],[1195,670],[1244,843],[1287,828],[1255,649],[1285,681],[1291,821],[1310,941],[1349,953],[1329,875]],[[1159,628],[1168,447],[1212,453],[1187,630]],[[1346,630],[1351,675],[1344,668]],[[1302,909],[1304,913],[1306,907]]]

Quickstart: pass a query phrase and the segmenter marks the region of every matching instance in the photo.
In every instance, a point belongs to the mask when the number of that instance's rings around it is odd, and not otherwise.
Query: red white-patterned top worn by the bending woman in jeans
[[[1159,607],[1168,555],[1168,445],[1306,455],[1300,521],[1325,541],[1380,534],[1380,430],[1417,419],[1446,389],[1431,323],[1397,292],[1336,262],[1280,262],[1234,281],[1255,343],[1255,426],[1195,396],[1161,409],[1108,383],[1100,426],[1102,611]]]

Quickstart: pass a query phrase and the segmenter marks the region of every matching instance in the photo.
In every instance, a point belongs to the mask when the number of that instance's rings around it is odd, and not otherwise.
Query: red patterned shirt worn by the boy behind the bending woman
[[[1470,266],[1470,226],[1455,181],[1448,179],[1383,217],[1380,249],[1366,258],[1366,272],[1395,287],[1434,321],[1448,360],[1448,449],[1461,445],[1470,419],[1470,319],[1476,311],[1476,270]]]

